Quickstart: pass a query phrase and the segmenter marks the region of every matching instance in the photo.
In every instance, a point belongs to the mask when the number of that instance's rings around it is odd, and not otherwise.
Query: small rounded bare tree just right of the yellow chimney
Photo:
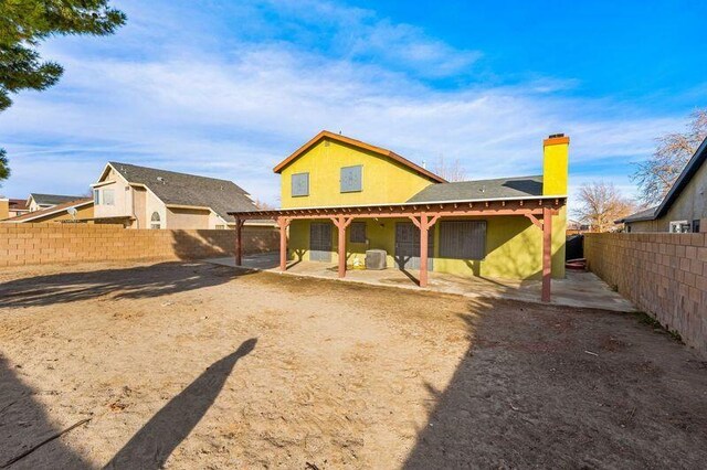
[[[580,206],[574,212],[580,222],[592,232],[609,232],[614,221],[632,214],[636,204],[624,197],[613,183],[594,181],[579,190]]]

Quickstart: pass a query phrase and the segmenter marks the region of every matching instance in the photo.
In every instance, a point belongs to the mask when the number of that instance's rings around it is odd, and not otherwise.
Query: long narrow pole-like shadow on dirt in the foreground
[[[213,405],[238,360],[253,351],[256,342],[255,338],[244,341],[236,351],[207,367],[143,426],[105,468],[162,468],[177,446]]]

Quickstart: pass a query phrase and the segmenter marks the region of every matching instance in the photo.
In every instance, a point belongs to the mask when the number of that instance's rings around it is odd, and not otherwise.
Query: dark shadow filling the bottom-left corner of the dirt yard
[[[38,392],[22,383],[15,371],[0,355],[0,468],[6,468],[11,459],[61,430],[50,421],[44,406],[34,399]],[[61,439],[48,442],[8,468],[20,467],[91,468]]]

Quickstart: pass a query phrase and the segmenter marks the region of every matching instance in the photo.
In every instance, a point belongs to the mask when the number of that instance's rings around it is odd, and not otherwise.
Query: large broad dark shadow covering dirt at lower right
[[[700,468],[707,362],[632,314],[479,300],[403,466]]]

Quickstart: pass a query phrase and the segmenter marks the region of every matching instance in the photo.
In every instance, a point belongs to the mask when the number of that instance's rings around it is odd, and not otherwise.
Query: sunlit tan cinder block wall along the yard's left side
[[[126,229],[119,225],[0,224],[0,267],[178,260],[233,255],[233,229]],[[243,253],[278,249],[275,227],[244,227]]]

